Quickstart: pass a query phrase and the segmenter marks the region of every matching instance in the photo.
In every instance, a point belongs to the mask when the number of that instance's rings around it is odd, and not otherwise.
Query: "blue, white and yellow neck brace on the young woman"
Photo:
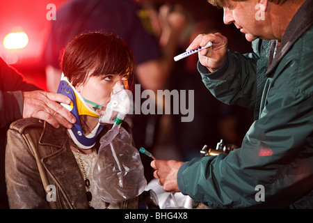
[[[98,123],[97,126],[90,132],[90,134],[85,135],[83,134],[83,128],[81,127],[79,116],[88,115],[99,117],[99,114],[88,107],[81,94],[76,91],[74,86],[72,86],[72,84],[68,81],[67,77],[64,77],[63,73],[57,92],[66,95],[72,100],[70,105],[61,103],[61,105],[69,110],[77,120],[76,123],[74,123],[72,129],[68,129],[70,137],[72,137],[74,143],[80,148],[93,148],[97,140],[97,136],[103,130],[104,125],[100,125]]]

